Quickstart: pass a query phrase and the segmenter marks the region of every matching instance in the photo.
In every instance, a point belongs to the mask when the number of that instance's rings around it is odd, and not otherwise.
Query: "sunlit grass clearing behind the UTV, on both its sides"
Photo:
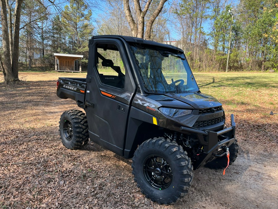
[[[111,71],[100,73],[117,74]],[[178,77],[178,74],[176,76]],[[195,72],[194,76],[201,92],[220,100],[227,111],[242,107],[246,107],[246,110],[256,108],[254,111],[261,108],[265,111],[278,111],[278,73]],[[58,77],[85,78],[86,73],[19,72],[19,78],[24,81],[49,81]],[[3,82],[3,77],[0,77],[0,80]]]

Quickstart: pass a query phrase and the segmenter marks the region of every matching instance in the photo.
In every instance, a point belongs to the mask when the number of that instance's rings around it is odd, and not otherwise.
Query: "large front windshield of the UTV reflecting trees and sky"
[[[131,46],[148,92],[184,94],[199,90],[184,54]]]

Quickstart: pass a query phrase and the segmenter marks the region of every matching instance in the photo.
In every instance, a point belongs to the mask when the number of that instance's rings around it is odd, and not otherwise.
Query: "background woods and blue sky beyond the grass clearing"
[[[161,1],[24,0],[19,31],[20,69],[53,70],[53,53],[66,53],[84,55],[81,64],[82,70],[86,70],[91,36],[134,36],[126,18],[125,2],[139,22],[137,2],[142,11],[151,2],[144,14],[146,30]],[[165,0],[164,3],[148,39],[183,49],[194,71],[226,70],[230,32],[229,71],[278,71],[277,1]],[[6,0],[6,5],[8,11],[15,12],[15,1]]]

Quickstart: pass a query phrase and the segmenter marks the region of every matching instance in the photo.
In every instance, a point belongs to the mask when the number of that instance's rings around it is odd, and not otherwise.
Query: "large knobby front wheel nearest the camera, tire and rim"
[[[176,142],[154,138],[143,142],[132,159],[134,181],[146,198],[170,204],[188,193],[193,167]]]

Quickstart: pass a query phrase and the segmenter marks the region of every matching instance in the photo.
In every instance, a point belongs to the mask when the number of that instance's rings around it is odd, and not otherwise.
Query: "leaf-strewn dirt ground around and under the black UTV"
[[[258,124],[236,117],[240,150],[225,176],[200,168],[187,196],[158,205],[136,187],[130,159],[92,142],[67,150],[58,121],[77,105],[56,96],[54,79],[26,80],[0,83],[0,208],[277,208],[278,115],[267,132],[272,141],[249,140],[250,132],[261,134]]]

